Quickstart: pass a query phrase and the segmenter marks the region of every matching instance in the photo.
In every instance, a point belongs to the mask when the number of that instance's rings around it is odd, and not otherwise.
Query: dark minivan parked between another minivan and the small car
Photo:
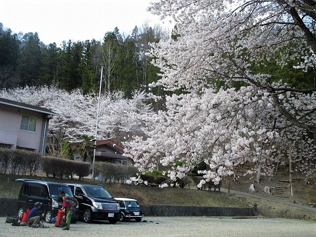
[[[79,202],[79,217],[85,223],[93,220],[108,220],[115,224],[119,220],[119,204],[108,191],[99,186],[67,184]]]

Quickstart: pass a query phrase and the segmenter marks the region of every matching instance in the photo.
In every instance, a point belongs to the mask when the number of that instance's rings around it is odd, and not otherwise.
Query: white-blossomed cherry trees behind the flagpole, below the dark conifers
[[[95,135],[98,97],[94,94],[83,95],[80,89],[67,92],[55,86],[26,86],[3,89],[0,97],[44,107],[59,114],[49,121],[49,137],[54,146],[61,147],[67,139],[79,142],[83,135]],[[97,139],[117,141],[120,132],[126,134],[139,130],[141,121],[138,115],[151,113],[150,106],[143,102],[146,97],[139,91],[135,91],[132,99],[125,99],[121,92],[101,96]]]

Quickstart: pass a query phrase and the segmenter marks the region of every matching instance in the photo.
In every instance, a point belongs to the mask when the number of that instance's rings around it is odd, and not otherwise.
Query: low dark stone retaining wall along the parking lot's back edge
[[[272,209],[271,206],[257,207],[212,207],[182,205],[143,206],[145,216],[255,216],[278,217],[316,221],[306,215],[290,214],[287,210]],[[16,216],[18,212],[17,198],[0,198],[0,216]]]

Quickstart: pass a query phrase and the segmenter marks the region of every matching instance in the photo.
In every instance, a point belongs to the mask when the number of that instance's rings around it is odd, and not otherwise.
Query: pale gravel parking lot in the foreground
[[[289,219],[234,219],[218,217],[146,217],[141,222],[77,222],[70,231],[14,227],[0,217],[0,237],[315,237],[316,223]]]

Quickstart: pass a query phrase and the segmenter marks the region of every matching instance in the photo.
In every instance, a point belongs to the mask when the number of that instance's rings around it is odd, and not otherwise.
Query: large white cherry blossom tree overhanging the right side
[[[203,182],[219,182],[236,165],[273,173],[280,156],[295,157],[300,172],[315,171],[315,82],[296,88],[270,65],[316,65],[315,1],[160,0],[149,9],[172,16],[176,39],[152,44],[163,86],[175,94],[166,110],[144,118],[145,136],[125,143],[141,172],[171,167],[170,182],[199,163]],[[304,74],[305,73],[305,74]],[[179,93],[182,91],[182,93]],[[156,98],[159,99],[159,98]],[[291,151],[285,144],[292,142]],[[287,155],[286,155],[287,154]],[[176,166],[175,161],[184,161]],[[142,182],[137,177],[135,182]],[[161,187],[168,184],[162,184]]]

